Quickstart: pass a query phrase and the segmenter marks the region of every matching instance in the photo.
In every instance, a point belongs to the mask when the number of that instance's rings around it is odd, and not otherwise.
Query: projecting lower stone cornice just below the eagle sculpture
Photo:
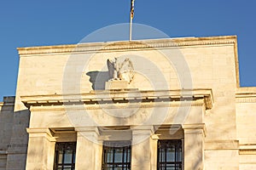
[[[150,107],[151,104],[172,105],[205,105],[206,109],[212,109],[213,98],[211,89],[186,89],[186,90],[104,90],[93,91],[89,94],[53,94],[21,96],[21,101],[30,108],[31,106],[53,105],[85,105],[88,109],[108,107],[108,104],[139,104],[140,107]],[[195,101],[202,101],[197,102]],[[170,103],[171,102],[171,103]],[[170,103],[170,104],[169,104]],[[201,104],[202,103],[202,104]],[[143,105],[145,104],[145,105]],[[150,105],[146,105],[150,104]]]

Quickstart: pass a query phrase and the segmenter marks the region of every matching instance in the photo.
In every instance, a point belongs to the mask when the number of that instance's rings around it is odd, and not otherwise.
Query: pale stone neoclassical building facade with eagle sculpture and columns
[[[255,169],[236,36],[18,48],[0,169]]]

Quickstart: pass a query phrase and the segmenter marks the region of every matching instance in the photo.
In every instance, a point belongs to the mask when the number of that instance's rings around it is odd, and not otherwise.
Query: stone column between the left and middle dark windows
[[[102,169],[102,144],[98,142],[97,127],[76,127],[76,170]]]

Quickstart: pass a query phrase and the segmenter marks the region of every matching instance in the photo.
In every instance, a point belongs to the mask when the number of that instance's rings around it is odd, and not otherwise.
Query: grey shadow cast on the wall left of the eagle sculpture
[[[86,75],[90,76],[91,88],[94,90],[104,90],[105,82],[110,79],[108,71],[89,71]]]

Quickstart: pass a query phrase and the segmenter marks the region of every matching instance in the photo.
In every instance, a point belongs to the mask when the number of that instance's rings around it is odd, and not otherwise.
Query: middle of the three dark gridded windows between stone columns
[[[131,142],[104,142],[102,170],[131,169]]]

